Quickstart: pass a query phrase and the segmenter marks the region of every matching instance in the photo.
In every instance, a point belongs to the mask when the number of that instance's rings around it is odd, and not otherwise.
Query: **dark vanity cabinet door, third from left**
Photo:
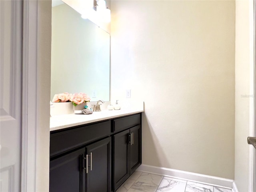
[[[114,140],[114,191],[129,177],[129,136],[125,130],[113,136]]]

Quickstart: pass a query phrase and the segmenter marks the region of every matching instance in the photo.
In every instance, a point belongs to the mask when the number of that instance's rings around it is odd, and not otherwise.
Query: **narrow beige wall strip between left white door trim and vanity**
[[[37,125],[36,125],[36,191],[49,190],[49,164],[50,164],[50,80],[51,80],[51,19],[52,7],[50,1],[38,1],[38,36],[37,36]],[[34,15],[31,15],[32,17]],[[32,23],[32,22],[31,22]],[[31,88],[32,89],[32,88]],[[33,128],[32,128],[33,129]],[[28,130],[32,135],[32,130]],[[30,138],[30,141],[32,139]],[[30,145],[30,143],[29,143]],[[31,154],[31,153],[30,153]],[[31,157],[30,157],[31,158]],[[31,162],[33,163],[33,162]],[[28,173],[29,174],[29,173]],[[29,191],[29,189],[28,189]]]

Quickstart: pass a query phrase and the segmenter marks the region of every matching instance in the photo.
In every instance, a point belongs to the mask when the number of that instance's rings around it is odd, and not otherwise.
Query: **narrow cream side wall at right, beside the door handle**
[[[251,9],[251,10],[250,10]],[[235,182],[240,192],[250,190],[250,109],[253,107],[250,84],[253,84],[252,1],[236,1],[236,120],[235,120]]]

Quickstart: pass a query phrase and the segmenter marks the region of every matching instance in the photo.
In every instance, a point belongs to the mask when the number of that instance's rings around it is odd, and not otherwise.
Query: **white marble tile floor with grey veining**
[[[232,190],[135,171],[116,192],[232,192]]]

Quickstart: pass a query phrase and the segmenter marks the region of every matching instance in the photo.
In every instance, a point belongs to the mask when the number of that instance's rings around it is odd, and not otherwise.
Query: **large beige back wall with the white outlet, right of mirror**
[[[234,179],[234,1],[111,1],[111,100],[144,100],[142,163]]]

